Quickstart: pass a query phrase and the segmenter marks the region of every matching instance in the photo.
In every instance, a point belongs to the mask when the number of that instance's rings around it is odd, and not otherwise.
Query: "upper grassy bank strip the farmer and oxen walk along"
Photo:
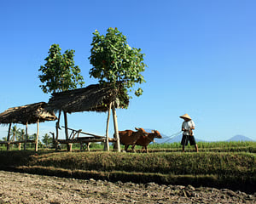
[[[38,155],[39,154],[39,155]],[[150,154],[115,152],[56,152],[34,155],[32,152],[0,152],[5,166],[41,166],[70,170],[96,170],[164,173],[173,175],[255,175],[252,153],[181,153]]]

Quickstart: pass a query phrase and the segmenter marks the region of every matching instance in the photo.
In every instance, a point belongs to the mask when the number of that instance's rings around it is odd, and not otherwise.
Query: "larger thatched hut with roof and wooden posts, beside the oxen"
[[[61,111],[63,111],[66,139],[68,139],[67,113],[82,111],[108,112],[106,143],[109,150],[108,122],[112,109],[115,136],[119,149],[119,134],[115,108],[119,106],[118,101],[120,97],[123,98],[122,101],[125,102],[125,105],[129,104],[129,98],[126,94],[122,93],[122,90],[121,87],[113,88],[113,86],[107,83],[104,85],[92,84],[86,88],[77,88],[61,93],[54,93],[49,99],[47,110],[55,112],[59,111],[58,122],[60,120]],[[56,124],[56,139],[58,138],[57,126],[58,124]]]

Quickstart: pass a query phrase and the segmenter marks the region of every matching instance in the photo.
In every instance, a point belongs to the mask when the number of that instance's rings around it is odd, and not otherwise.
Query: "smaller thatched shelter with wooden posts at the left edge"
[[[7,150],[9,150],[9,144],[24,143],[24,150],[26,150],[26,143],[34,143],[35,151],[38,151],[38,137],[39,137],[39,122],[55,121],[57,117],[53,111],[46,111],[45,102],[34,103],[30,105],[23,105],[14,108],[9,108],[0,114],[0,124],[9,124],[9,131],[7,135],[7,141],[2,141],[0,144],[7,144]],[[26,139],[22,141],[10,141],[10,131],[12,123],[18,123],[26,125]],[[28,140],[27,125],[37,123],[37,137],[36,140]]]

